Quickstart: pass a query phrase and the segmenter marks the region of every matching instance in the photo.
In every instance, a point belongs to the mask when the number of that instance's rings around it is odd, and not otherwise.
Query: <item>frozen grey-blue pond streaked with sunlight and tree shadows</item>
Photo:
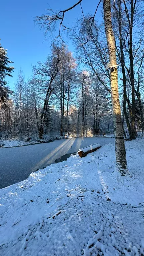
[[[61,156],[93,143],[102,146],[114,138],[72,138],[24,147],[0,149],[0,189],[25,180],[30,173],[46,167]]]

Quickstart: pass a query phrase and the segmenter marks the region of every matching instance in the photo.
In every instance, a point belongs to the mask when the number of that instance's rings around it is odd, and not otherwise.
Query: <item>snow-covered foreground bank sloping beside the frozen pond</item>
[[[126,149],[127,177],[109,144],[1,189],[0,255],[143,256],[144,139]]]

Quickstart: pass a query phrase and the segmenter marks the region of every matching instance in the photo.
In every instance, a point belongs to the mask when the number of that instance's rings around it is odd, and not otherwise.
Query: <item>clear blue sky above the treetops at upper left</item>
[[[9,86],[13,88],[18,70],[21,67],[27,79],[32,72],[31,64],[43,61],[50,52],[50,40],[45,40],[43,31],[34,24],[34,17],[44,13],[45,8],[63,10],[72,6],[77,0],[7,0],[1,2],[0,15],[0,38],[1,44],[8,49],[8,57],[13,61],[15,70],[13,78],[7,78]],[[49,4],[49,5],[48,5]],[[94,13],[98,0],[83,0],[84,13]],[[73,25],[74,21],[81,15],[80,6],[75,7],[66,15],[66,23]],[[100,19],[101,11],[97,12],[97,19]],[[69,49],[74,51],[71,42],[68,42]]]

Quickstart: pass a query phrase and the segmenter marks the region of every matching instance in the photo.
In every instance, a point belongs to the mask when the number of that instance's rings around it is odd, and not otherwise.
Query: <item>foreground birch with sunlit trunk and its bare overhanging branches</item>
[[[76,4],[74,4],[70,8],[65,9],[63,11],[54,12],[53,10],[48,10],[48,15],[42,15],[40,17],[36,17],[36,21],[40,24],[42,28],[45,28],[46,33],[50,31],[52,28],[54,28],[56,22],[58,22],[59,23],[58,37],[61,38],[61,32],[67,29],[67,27],[64,25],[65,13],[72,10],[75,6],[81,4],[81,2],[82,0],[78,1]],[[98,3],[98,6],[100,2]],[[98,6],[95,10],[94,16],[92,17],[92,23],[96,15]],[[115,49],[115,38],[114,38],[112,22],[111,22],[110,0],[103,0],[103,11],[104,11],[105,33],[107,38],[109,60],[110,60],[109,68],[110,68],[110,84],[111,84],[111,98],[112,98],[112,108],[113,108],[114,134],[115,134],[116,165],[117,165],[117,169],[121,172],[121,174],[125,175],[127,172],[127,162],[126,162],[126,151],[125,151],[125,144],[124,144],[124,138],[123,138],[119,93],[118,93],[116,49]]]

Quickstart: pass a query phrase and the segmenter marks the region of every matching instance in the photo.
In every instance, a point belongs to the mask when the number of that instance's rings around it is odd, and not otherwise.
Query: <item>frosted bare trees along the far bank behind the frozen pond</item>
[[[90,136],[113,129],[110,95],[95,74],[79,70],[65,44],[53,44],[46,60],[32,71],[26,81],[19,70],[14,92],[1,106],[3,137]]]

